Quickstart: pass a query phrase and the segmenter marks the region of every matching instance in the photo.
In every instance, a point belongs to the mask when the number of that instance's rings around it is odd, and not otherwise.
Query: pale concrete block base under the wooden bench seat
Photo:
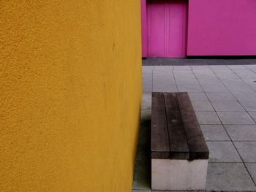
[[[194,161],[151,159],[151,188],[153,190],[205,190],[207,159]]]

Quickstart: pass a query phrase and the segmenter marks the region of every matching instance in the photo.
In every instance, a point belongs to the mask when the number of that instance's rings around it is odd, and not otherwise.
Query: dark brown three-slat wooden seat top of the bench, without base
[[[151,158],[208,159],[188,93],[152,93]]]

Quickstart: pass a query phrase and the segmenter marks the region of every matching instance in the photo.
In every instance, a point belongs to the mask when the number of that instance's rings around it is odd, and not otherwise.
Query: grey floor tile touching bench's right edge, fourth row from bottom
[[[195,112],[200,124],[218,125],[221,124],[216,112]]]

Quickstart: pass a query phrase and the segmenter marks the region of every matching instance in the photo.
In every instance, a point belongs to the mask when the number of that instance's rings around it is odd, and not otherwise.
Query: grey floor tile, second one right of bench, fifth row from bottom
[[[238,101],[211,101],[214,110],[222,112],[244,111]]]

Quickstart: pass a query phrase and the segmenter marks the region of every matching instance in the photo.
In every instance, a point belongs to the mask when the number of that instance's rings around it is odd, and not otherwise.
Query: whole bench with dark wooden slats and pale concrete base
[[[208,147],[187,93],[152,93],[151,188],[204,190]]]

